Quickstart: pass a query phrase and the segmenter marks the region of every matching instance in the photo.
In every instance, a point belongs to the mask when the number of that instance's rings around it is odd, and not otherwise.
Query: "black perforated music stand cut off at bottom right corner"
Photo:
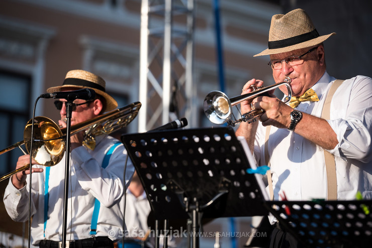
[[[305,247],[372,243],[372,200],[267,201],[265,206]]]

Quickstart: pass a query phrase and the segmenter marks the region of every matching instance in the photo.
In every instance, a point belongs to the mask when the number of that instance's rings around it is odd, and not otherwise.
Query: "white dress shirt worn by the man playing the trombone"
[[[110,157],[109,165],[102,168],[102,161],[110,148],[119,142],[110,136],[97,138],[94,151],[78,147],[71,152],[70,178],[67,211],[67,240],[91,237],[90,224],[94,209],[95,197],[101,207],[97,224],[96,236],[108,236],[117,240],[123,235],[124,212],[124,166],[127,152],[123,144],[118,145]],[[42,167],[42,166],[40,166]],[[50,167],[48,220],[45,229],[45,239],[62,240],[63,195],[65,158],[55,166]],[[134,166],[128,158],[125,173],[126,185],[134,173]],[[32,243],[38,244],[44,239],[44,188],[45,167],[42,173],[32,174]],[[15,221],[28,219],[27,185],[16,189],[11,180],[6,188],[4,203],[8,214]]]

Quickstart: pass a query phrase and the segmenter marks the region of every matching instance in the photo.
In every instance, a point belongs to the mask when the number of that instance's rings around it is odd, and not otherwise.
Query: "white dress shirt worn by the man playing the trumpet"
[[[335,78],[327,72],[312,87],[318,102],[304,101],[295,109],[320,117],[329,88]],[[300,120],[301,121],[301,120]],[[329,150],[335,157],[337,198],[353,200],[357,191],[372,199],[372,79],[356,76],[345,80],[333,95],[329,125],[337,135],[338,145]],[[254,157],[265,165],[266,128],[258,126]],[[288,200],[327,198],[327,174],[321,147],[287,129],[271,127],[268,154],[274,199],[285,192]]]

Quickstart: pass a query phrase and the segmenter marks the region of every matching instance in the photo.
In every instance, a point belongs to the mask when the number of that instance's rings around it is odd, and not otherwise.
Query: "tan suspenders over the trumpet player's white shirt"
[[[331,107],[331,100],[333,97],[334,92],[336,92],[336,89],[338,86],[342,84],[344,80],[335,80],[331,88],[329,89],[329,92],[327,94],[327,97],[325,99],[323,109],[322,109],[322,115],[321,118],[323,119],[329,119],[330,118],[330,107]],[[270,128],[271,126],[266,127],[266,135],[265,135],[265,162],[268,167],[270,167],[270,160],[268,155],[268,137],[270,135]],[[324,158],[325,158],[325,164],[326,164],[326,171],[327,171],[327,200],[337,200],[337,178],[336,178],[336,164],[334,161],[333,154],[330,154],[326,150],[324,150]],[[270,199],[274,199],[274,191],[272,188],[272,180],[271,180],[271,173],[270,170],[267,171],[267,181],[268,181],[268,189],[269,189],[269,195]]]

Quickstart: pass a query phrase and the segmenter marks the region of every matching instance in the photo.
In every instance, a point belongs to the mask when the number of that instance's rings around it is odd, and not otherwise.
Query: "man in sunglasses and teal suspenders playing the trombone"
[[[106,82],[100,76],[83,70],[72,70],[63,85],[48,92],[71,91],[82,88],[95,90],[92,100],[75,99],[72,104],[71,125],[76,125],[117,107],[116,100],[105,92]],[[59,125],[66,127],[66,100],[55,101],[60,111]],[[71,136],[71,162],[68,192],[66,240],[69,247],[113,247],[113,241],[123,234],[125,187],[134,173],[127,152],[117,139],[96,137],[94,150],[82,146],[82,132]],[[126,172],[124,173],[125,163]],[[21,156],[20,168],[30,161]],[[33,162],[34,164],[34,162]],[[62,246],[62,214],[64,198],[65,159],[51,167],[33,166],[31,241],[40,247]],[[4,203],[11,218],[27,221],[29,170],[10,178]],[[125,175],[125,178],[124,178]],[[126,185],[124,185],[124,182]],[[67,247],[67,246],[66,246]]]

